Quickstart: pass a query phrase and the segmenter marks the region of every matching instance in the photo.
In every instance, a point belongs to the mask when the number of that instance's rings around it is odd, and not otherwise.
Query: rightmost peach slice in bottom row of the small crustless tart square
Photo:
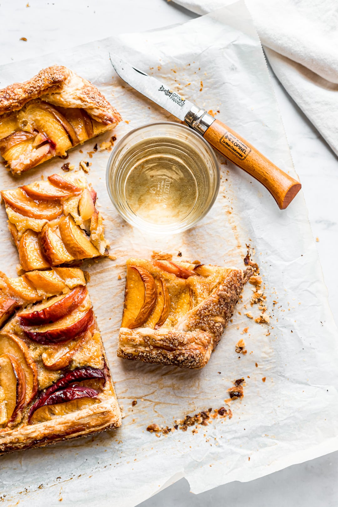
[[[62,241],[75,259],[100,256],[99,250],[91,243],[86,233],[68,215],[59,225]]]

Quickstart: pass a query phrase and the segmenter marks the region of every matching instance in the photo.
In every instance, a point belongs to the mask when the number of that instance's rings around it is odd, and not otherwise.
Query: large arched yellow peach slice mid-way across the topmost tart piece
[[[19,125],[25,130],[42,132],[53,142],[56,155],[66,155],[67,150],[73,146],[66,125],[75,136],[76,132],[55,107],[46,102],[44,104],[34,100],[28,102],[18,113]]]

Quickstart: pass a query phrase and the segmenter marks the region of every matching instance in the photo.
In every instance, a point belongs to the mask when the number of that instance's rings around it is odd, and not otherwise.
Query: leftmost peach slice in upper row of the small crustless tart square
[[[20,188],[3,190],[1,195],[12,209],[33,219],[54,220],[62,214],[62,204],[59,201],[36,202]]]

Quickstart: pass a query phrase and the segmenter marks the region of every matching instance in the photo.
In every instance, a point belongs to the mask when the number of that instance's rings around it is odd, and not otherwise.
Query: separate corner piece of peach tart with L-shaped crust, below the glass
[[[250,274],[129,259],[118,356],[182,368],[205,366]]]

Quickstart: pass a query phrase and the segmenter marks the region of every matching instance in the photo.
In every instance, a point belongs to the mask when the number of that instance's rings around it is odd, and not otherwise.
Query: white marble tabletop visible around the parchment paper
[[[109,35],[182,23],[195,17],[167,0],[3,0],[0,4],[0,64],[72,47]],[[25,37],[27,42],[20,41]],[[293,162],[303,184],[309,218],[338,324],[338,161],[296,104],[272,76]],[[1,75],[0,75],[1,87]],[[173,470],[174,472],[174,470]],[[180,480],[142,507],[234,505],[244,507],[335,507],[338,452],[298,464],[250,483],[231,483],[192,495]],[[57,504],[55,500],[55,505]],[[88,502],[88,505],[90,501]],[[109,499],[107,496],[107,503]],[[39,506],[38,506],[39,507]],[[123,507],[123,506],[122,506]]]

